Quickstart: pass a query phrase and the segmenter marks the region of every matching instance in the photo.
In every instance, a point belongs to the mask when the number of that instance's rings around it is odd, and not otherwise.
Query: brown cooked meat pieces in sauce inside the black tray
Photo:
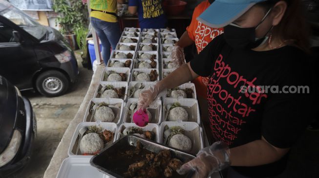
[[[124,173],[125,178],[176,178],[180,177],[176,170],[182,166],[182,161],[172,158],[170,150],[164,150],[154,154],[142,148],[137,142],[136,148],[124,153],[128,159],[138,156],[136,162],[128,166]]]

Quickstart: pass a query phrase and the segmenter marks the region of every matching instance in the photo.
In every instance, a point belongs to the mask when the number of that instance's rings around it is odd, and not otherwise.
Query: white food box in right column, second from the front
[[[179,98],[165,98],[164,99],[164,108],[163,108],[163,122],[168,121],[167,106],[172,105],[173,103],[179,103],[181,107],[186,109],[188,113],[188,122],[194,122],[200,124],[200,114],[198,101],[195,99],[179,99]]]

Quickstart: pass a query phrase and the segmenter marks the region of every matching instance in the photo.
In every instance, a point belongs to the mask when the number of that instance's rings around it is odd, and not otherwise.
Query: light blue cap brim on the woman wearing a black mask
[[[212,28],[224,27],[243,15],[256,3],[229,4],[214,1],[198,18]]]

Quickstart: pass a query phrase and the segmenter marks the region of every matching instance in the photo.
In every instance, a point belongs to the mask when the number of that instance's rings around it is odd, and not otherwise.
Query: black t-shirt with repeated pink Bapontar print
[[[214,38],[191,61],[191,69],[209,77],[209,123],[215,140],[232,148],[263,136],[278,148],[291,147],[309,124],[311,99],[310,94],[284,93],[295,91],[285,86],[310,90],[307,59],[293,46],[264,52],[235,50],[223,35]],[[233,168],[244,176],[271,177],[284,170],[286,160],[287,155],[267,165]]]

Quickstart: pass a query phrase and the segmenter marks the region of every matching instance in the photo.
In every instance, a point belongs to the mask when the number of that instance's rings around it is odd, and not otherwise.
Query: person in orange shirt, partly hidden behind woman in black
[[[199,17],[214,0],[205,0],[198,4],[193,12],[191,24],[186,28],[186,31],[175,44],[172,52],[172,60],[177,63],[184,63],[183,48],[195,43],[197,53],[200,53],[216,36],[224,32],[223,28],[211,28],[196,18]],[[201,107],[202,118],[207,119],[207,84],[208,77],[198,77],[192,81],[195,84],[198,96],[198,102]]]

